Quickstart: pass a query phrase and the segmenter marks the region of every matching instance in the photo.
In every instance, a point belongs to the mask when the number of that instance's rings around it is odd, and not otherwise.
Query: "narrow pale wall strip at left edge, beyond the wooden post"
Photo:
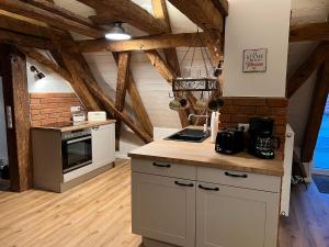
[[[3,102],[2,78],[0,77],[0,160],[8,160],[5,114]]]

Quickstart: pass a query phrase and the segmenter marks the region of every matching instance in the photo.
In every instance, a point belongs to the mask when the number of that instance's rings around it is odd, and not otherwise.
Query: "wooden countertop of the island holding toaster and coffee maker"
[[[215,151],[215,144],[212,144],[209,138],[203,143],[159,139],[131,151],[128,156],[139,159],[283,176],[283,154],[276,154],[274,159],[259,159],[246,151],[234,156],[222,155]]]

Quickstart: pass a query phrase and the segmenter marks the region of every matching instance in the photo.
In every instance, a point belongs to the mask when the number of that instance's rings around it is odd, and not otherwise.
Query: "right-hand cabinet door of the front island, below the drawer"
[[[198,183],[197,247],[276,247],[279,193]]]

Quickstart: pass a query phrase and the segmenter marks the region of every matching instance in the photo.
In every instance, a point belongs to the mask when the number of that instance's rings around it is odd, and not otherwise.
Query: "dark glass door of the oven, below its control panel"
[[[64,173],[84,167],[91,162],[91,135],[63,141]]]

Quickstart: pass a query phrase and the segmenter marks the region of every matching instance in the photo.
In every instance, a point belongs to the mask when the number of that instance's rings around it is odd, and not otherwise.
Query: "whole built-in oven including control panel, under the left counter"
[[[63,173],[92,164],[91,130],[64,132],[61,134]]]

